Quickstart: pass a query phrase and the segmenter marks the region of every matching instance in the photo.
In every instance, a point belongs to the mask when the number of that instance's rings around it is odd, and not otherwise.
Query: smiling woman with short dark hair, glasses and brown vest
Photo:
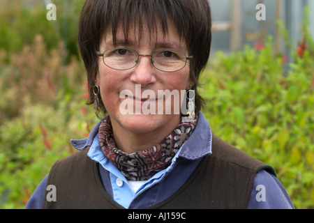
[[[79,44],[106,116],[27,208],[293,208],[274,169],[212,134],[200,112],[207,0],[87,0]]]

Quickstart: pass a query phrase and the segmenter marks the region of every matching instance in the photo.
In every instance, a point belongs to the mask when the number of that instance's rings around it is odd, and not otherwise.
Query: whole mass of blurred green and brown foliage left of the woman
[[[0,43],[0,208],[24,208],[52,164],[73,153],[70,139],[86,137],[97,119],[86,109],[82,61],[65,63],[70,40],[52,29],[47,10],[8,11],[0,12],[0,33],[13,33]]]

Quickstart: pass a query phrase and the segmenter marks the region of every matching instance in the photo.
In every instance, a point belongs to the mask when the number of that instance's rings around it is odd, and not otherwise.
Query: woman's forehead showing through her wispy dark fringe
[[[164,29],[160,23],[156,23],[154,29],[147,25],[130,22],[128,28],[119,24],[116,31],[107,31],[100,41],[100,48],[110,48],[117,46],[127,47],[151,47],[170,48],[177,51],[186,51],[186,41],[179,36],[177,27],[172,21],[167,21]]]

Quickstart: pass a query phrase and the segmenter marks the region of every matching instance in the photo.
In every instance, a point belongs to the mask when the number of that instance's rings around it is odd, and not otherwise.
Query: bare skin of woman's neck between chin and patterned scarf
[[[137,153],[160,143],[180,123],[180,116],[174,116],[166,125],[148,132],[135,132],[124,128],[111,119],[114,141],[124,153]]]

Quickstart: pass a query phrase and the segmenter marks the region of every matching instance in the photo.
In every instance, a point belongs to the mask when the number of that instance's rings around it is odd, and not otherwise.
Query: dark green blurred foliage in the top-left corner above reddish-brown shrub
[[[56,48],[61,41],[64,43],[66,63],[71,56],[78,57],[77,24],[84,0],[52,1],[57,7],[56,21],[47,20],[48,10],[43,1],[33,2],[28,8],[20,1],[2,0],[0,3],[0,52],[8,52],[6,61],[11,54],[22,51],[24,45],[31,45],[38,34],[45,38],[47,49]]]

